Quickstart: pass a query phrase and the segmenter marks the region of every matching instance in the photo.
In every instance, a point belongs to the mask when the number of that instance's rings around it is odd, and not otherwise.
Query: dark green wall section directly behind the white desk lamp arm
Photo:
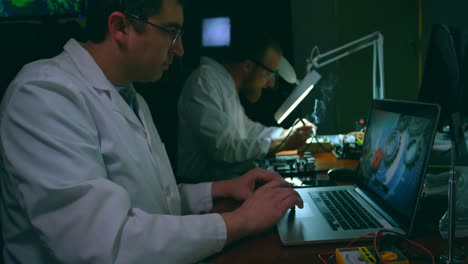
[[[417,1],[294,0],[292,12],[296,71],[304,76],[306,59],[317,46],[320,53],[380,31],[384,36],[385,97],[415,98],[418,62]],[[306,98],[312,104],[329,93],[320,133],[347,133],[368,113],[372,100],[372,48],[343,57],[318,71],[325,78]]]

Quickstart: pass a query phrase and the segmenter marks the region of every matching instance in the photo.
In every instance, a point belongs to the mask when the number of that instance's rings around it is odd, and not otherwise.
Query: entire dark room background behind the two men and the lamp
[[[178,93],[200,56],[216,52],[201,47],[201,19],[230,16],[233,23],[255,26],[277,38],[299,79],[313,47],[320,52],[380,31],[384,35],[385,97],[415,100],[421,81],[430,28],[447,23],[468,29],[464,0],[186,0],[185,55],[158,83],[137,84],[151,107],[159,133],[175,162]],[[86,15],[86,14],[84,14]],[[83,39],[85,18],[0,20],[1,76],[4,91],[21,66],[58,54],[69,37]],[[255,41],[255,40],[252,40]],[[319,133],[347,133],[367,114],[372,99],[372,49],[352,54],[320,69],[322,80],[289,118],[310,114],[314,99],[324,102]],[[272,112],[293,87],[278,81],[265,92],[258,111]],[[265,113],[262,113],[265,114]],[[291,120],[287,120],[291,122]]]

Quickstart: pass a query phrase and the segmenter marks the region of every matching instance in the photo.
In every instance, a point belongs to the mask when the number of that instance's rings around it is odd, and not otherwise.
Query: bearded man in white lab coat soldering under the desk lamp
[[[282,51],[260,30],[234,30],[223,58],[202,57],[178,102],[178,178],[202,182],[238,177],[255,159],[304,146],[313,124],[266,127],[250,120],[239,93],[250,102],[275,84]],[[307,122],[304,120],[303,122]]]

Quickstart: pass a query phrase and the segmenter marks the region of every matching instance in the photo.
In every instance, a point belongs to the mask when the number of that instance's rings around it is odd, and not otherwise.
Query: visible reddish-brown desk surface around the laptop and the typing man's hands
[[[317,170],[357,166],[356,160],[336,159],[330,152],[316,153],[314,157]],[[238,202],[222,200],[215,203],[214,211],[226,212],[237,206],[239,206]],[[420,234],[414,240],[422,243],[434,255],[443,254],[448,249],[447,240],[442,240],[434,232]],[[462,242],[468,248],[468,239],[463,239]],[[209,263],[322,263],[318,254],[333,252],[336,248],[344,246],[346,243],[286,247],[281,244],[276,227],[274,227],[260,235],[237,241],[206,261]]]

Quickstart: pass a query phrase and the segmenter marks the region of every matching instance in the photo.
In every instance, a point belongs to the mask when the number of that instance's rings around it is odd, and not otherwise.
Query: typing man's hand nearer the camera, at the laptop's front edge
[[[299,194],[284,180],[273,180],[258,188],[238,209],[223,213],[227,243],[274,226],[288,208],[304,206]]]

